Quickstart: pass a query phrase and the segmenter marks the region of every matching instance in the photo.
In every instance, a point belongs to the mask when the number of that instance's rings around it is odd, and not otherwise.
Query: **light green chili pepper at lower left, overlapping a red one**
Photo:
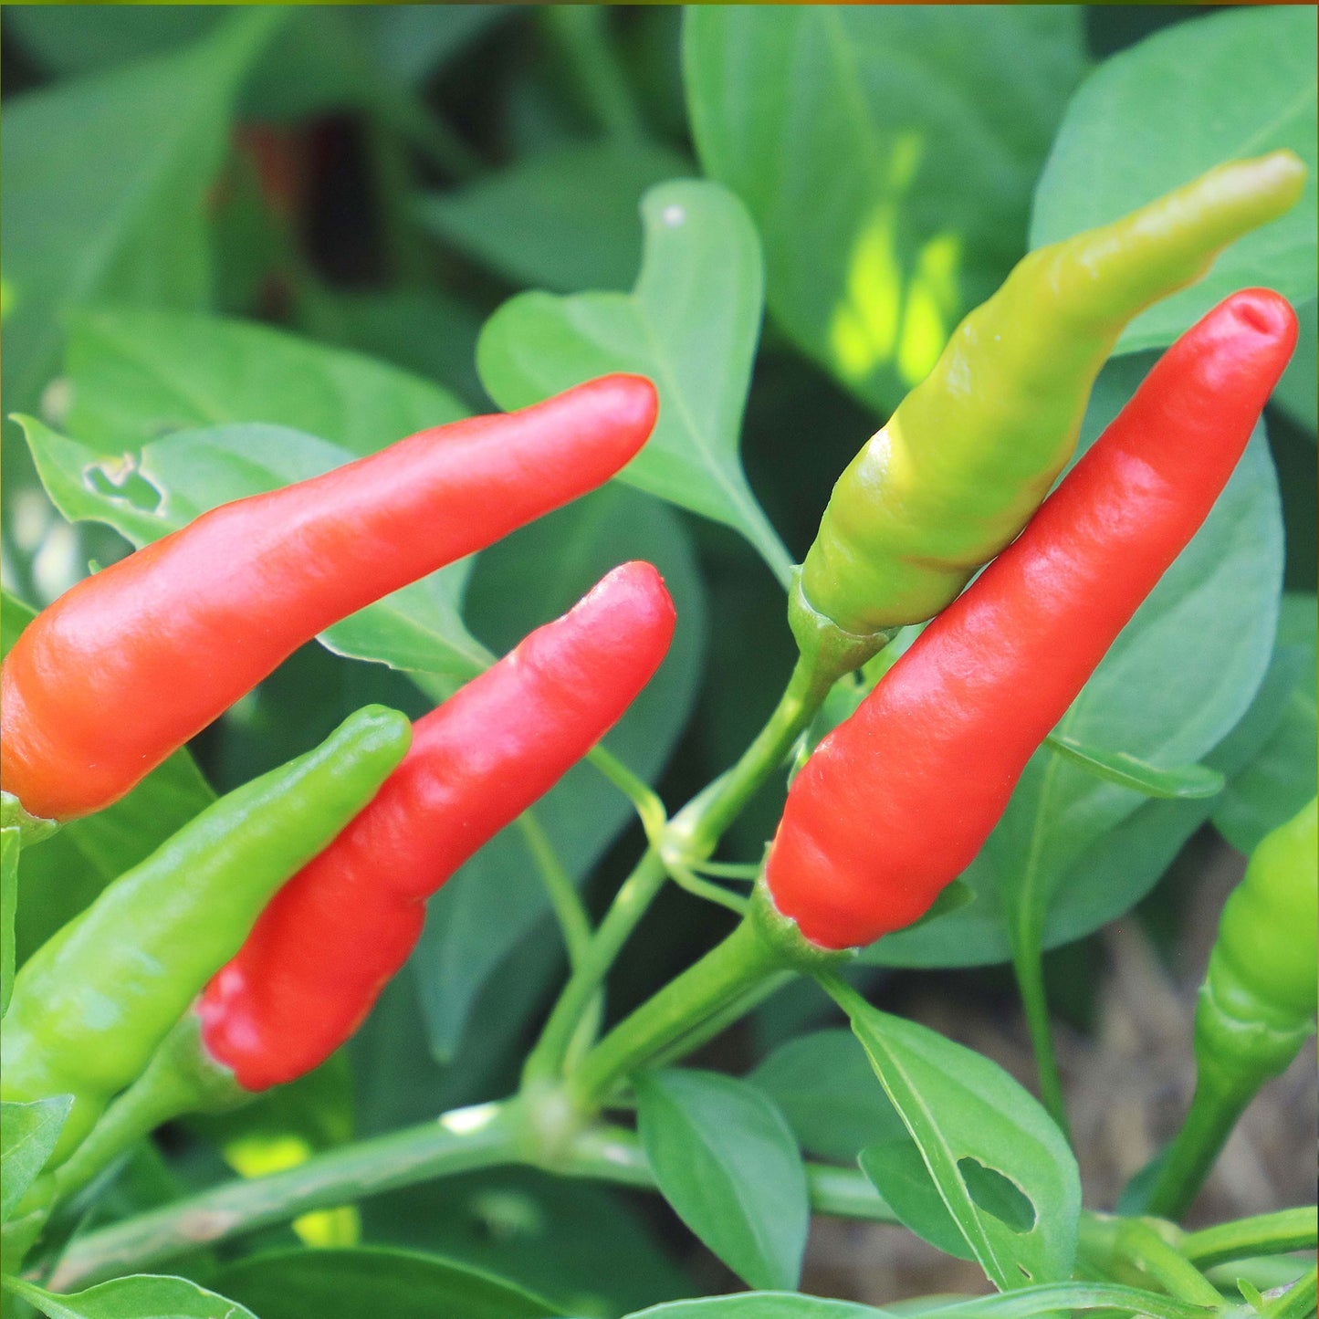
[[[368,706],[220,798],[115,880],[15,979],[0,1095],[74,1096],[58,1161],[133,1082],[270,896],[371,801],[412,740]]]

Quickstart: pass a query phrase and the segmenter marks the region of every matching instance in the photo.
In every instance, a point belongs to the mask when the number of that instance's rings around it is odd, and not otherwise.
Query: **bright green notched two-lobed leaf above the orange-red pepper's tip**
[[[741,532],[787,583],[791,562],[737,454],[761,317],[756,231],[716,183],[650,189],[636,289],[570,298],[524,293],[485,323],[481,381],[524,408],[609,371],[649,376],[660,419],[620,479]]]

